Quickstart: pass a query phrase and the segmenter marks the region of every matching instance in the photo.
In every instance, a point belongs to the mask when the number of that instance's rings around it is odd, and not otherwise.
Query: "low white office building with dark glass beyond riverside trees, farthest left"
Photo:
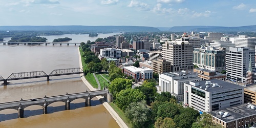
[[[121,49],[104,48],[100,50],[100,56],[104,58],[120,58]]]

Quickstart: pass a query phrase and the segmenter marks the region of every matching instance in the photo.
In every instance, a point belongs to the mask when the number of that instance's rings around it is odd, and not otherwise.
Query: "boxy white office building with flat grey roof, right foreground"
[[[220,79],[190,81],[184,86],[184,104],[200,113],[244,103],[244,87]]]

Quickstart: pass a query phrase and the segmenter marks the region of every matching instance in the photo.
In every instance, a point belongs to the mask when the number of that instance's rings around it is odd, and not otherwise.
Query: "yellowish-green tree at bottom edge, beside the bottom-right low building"
[[[215,124],[212,122],[211,115],[208,113],[203,113],[200,116],[197,117],[197,121],[194,122],[191,126],[192,128],[222,128],[222,125],[220,124]]]

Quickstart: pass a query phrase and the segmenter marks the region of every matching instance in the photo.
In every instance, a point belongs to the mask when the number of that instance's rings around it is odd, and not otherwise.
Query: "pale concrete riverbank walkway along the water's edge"
[[[81,60],[81,55],[80,55],[80,51],[78,48],[78,55],[79,55],[79,67],[82,69],[82,60]],[[83,74],[80,75],[82,81],[84,82],[84,84],[86,84],[86,86],[91,90],[91,91],[96,91],[97,89],[93,88],[91,86],[91,84],[86,80],[86,78],[83,76]],[[111,116],[116,120],[117,124],[120,127],[128,127],[123,120],[119,117],[119,115],[112,109],[112,107],[110,106],[110,104],[108,102],[106,102],[102,96],[97,96],[97,99],[99,99],[103,106],[105,107],[106,110],[109,111],[109,113],[111,114]]]

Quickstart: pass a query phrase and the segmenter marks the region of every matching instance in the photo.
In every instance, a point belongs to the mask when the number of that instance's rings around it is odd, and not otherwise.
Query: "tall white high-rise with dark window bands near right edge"
[[[255,56],[255,50],[249,48],[230,47],[226,53],[226,75],[231,81],[245,82],[246,71],[249,69],[250,56]],[[251,58],[252,71],[255,70],[255,58]]]

